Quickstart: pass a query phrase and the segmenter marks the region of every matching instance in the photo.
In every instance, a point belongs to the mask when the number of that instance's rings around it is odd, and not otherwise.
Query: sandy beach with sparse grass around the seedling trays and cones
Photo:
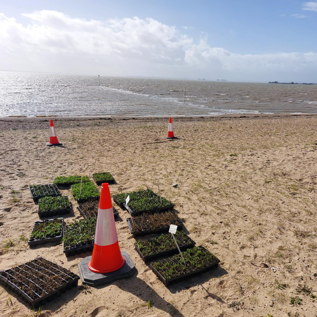
[[[1,270],[43,256],[79,274],[90,253],[67,258],[62,243],[30,249],[19,236],[28,238],[39,219],[29,184],[81,173],[92,179],[97,171],[114,174],[112,195],[157,192],[152,182],[162,183],[185,232],[221,262],[166,288],[134,249],[128,213],[115,205],[120,249],[137,274],[96,288],[79,281],[39,316],[316,316],[317,301],[302,288],[317,296],[317,115],[175,117],[176,140],[164,139],[167,118],[53,117],[62,147],[45,145],[49,119],[0,118]],[[66,223],[82,218],[71,190],[62,194],[73,205]],[[5,249],[8,239],[14,243]],[[296,296],[302,304],[292,307]],[[2,287],[0,314],[38,315]]]

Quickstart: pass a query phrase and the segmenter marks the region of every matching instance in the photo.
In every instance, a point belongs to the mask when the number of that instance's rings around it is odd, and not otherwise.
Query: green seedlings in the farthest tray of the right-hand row
[[[126,203],[126,197],[130,195],[129,207],[133,212],[145,212],[148,210],[155,210],[173,205],[171,201],[164,197],[162,204],[159,195],[154,193],[151,189],[133,191],[131,193],[120,193],[113,195],[120,204]]]

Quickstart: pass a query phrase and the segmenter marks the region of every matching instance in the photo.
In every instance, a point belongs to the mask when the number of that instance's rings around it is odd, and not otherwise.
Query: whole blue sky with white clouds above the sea
[[[317,1],[0,0],[0,70],[317,82]]]

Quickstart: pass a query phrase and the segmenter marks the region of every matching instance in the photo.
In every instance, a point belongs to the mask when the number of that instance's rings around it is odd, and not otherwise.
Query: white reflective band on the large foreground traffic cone
[[[103,232],[109,232],[110,234],[103,235]],[[103,246],[116,243],[117,241],[118,236],[114,222],[113,207],[98,209],[95,244]]]

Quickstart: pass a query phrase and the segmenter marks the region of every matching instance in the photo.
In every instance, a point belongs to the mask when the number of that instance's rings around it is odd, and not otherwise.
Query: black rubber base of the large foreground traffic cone
[[[91,256],[87,256],[82,259],[78,264],[82,283],[91,286],[97,286],[131,277],[137,269],[130,259],[130,256],[128,256],[125,251],[121,251],[121,255],[126,260],[126,263],[124,263],[123,267],[119,268],[119,270],[110,273],[94,273],[88,268],[88,263],[91,260]]]

